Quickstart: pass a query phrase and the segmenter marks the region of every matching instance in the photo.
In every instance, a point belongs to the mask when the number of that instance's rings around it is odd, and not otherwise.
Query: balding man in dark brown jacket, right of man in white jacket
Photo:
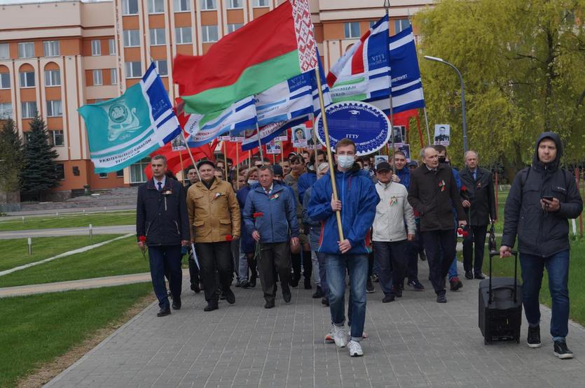
[[[439,152],[432,145],[425,147],[424,155],[422,166],[411,173],[408,202],[420,213],[420,234],[436,301],[446,303],[445,278],[455,257],[452,208],[460,225],[467,225],[467,217],[450,166],[439,163]]]

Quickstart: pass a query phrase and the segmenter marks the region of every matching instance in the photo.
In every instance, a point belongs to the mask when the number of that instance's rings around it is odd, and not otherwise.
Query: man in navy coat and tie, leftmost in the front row
[[[158,317],[171,313],[165,273],[169,275],[172,308],[181,308],[181,245],[191,240],[185,190],[165,176],[167,159],[156,155],[151,161],[153,178],[138,188],[136,234],[141,250],[149,249],[154,293],[160,311]]]

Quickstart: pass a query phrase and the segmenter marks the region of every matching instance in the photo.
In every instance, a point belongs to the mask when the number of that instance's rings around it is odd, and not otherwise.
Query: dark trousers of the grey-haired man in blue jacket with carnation
[[[310,255],[309,255],[310,260]],[[278,273],[283,291],[289,288],[291,277],[291,257],[289,243],[263,243],[260,247],[260,259],[258,260],[260,281],[266,301],[274,301],[275,272]]]

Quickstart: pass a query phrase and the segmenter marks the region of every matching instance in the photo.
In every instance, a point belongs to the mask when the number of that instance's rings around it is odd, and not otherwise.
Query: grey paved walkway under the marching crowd
[[[420,278],[427,264],[420,263]],[[585,329],[570,326],[577,354],[553,356],[550,310],[543,310],[541,349],[521,343],[483,345],[477,327],[477,280],[448,303],[427,290],[406,290],[393,303],[382,292],[368,295],[365,356],[324,344],[329,309],[311,291],[293,289],[287,306],[265,310],[259,285],[234,289],[233,306],[203,312],[202,294],[187,291],[183,308],[158,318],[146,308],[48,387],[583,387]],[[115,303],[115,301],[113,301]]]

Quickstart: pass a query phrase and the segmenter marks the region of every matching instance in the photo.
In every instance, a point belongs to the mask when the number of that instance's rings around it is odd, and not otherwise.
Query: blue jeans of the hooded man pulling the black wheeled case
[[[553,340],[564,340],[569,333],[569,250],[550,257],[520,253],[522,268],[522,301],[526,320],[530,326],[540,323],[539,292],[542,274],[546,266],[549,273],[549,291],[553,301],[551,336]]]

